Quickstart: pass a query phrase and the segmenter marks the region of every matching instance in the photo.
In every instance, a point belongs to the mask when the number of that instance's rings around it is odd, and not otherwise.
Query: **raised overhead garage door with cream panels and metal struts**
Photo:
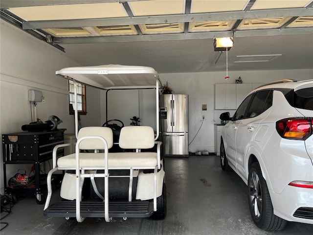
[[[1,0],[1,18],[59,46],[308,34],[313,0]]]

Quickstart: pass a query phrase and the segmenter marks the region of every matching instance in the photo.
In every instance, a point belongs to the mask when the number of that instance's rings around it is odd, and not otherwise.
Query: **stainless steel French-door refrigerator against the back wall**
[[[164,155],[188,156],[188,95],[160,95]]]

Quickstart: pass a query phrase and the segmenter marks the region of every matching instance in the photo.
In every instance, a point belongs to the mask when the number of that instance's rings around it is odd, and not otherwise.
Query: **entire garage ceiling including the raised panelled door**
[[[313,0],[0,0],[0,17],[83,66],[313,69]]]

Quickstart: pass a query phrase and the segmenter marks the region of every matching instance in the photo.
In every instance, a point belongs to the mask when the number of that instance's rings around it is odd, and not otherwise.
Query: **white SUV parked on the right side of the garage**
[[[281,80],[248,94],[221,132],[221,166],[246,183],[254,223],[313,224],[313,80]]]

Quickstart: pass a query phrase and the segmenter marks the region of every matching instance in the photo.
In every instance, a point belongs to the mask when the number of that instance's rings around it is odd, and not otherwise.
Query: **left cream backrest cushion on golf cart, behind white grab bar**
[[[109,148],[111,148],[113,145],[113,132],[112,129],[109,127],[103,126],[83,127],[78,132],[78,140],[86,136],[101,136],[107,141]],[[79,144],[79,149],[86,150],[104,149],[104,143],[98,139],[83,140]]]

